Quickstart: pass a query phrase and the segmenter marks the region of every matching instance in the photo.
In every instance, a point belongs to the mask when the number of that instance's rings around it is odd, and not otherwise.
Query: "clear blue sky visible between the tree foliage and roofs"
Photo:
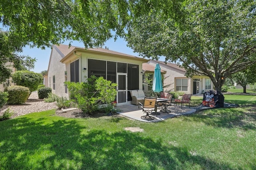
[[[63,44],[68,45],[68,42],[63,43]],[[76,46],[76,47],[84,47],[84,44],[81,42],[78,42],[78,41],[73,41],[71,43],[71,45]],[[105,48],[105,46],[108,47],[112,51],[117,51],[120,53],[125,53],[125,54],[139,57],[138,53],[134,53],[130,47],[127,47],[127,42],[122,38],[118,38],[116,41],[114,41],[114,39],[110,39],[110,40],[106,41],[105,45],[102,48]],[[30,71],[40,73],[41,71],[48,69],[48,63],[49,63],[49,59],[50,59],[50,55],[51,55],[51,49],[46,48],[45,50],[42,50],[42,49],[30,48],[30,47],[26,46],[23,49],[23,53],[21,53],[21,55],[36,58],[35,67],[34,67],[34,69],[32,69]],[[160,59],[160,61],[164,61],[164,60]]]

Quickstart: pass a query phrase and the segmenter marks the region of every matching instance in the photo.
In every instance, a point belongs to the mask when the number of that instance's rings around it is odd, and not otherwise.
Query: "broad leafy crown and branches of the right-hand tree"
[[[255,1],[188,1],[184,13],[181,26],[157,13],[141,16],[128,29],[128,45],[143,57],[181,64],[187,76],[210,77],[216,90],[256,63]]]

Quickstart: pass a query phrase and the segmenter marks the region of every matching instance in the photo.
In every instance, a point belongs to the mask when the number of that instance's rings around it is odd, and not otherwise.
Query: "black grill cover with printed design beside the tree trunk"
[[[224,96],[217,90],[204,92],[202,105],[210,107],[224,107]]]

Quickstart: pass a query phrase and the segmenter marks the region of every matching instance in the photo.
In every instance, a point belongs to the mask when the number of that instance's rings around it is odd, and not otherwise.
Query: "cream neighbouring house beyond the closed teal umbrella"
[[[164,86],[170,85],[168,88],[164,88],[164,91],[182,91],[186,94],[201,94],[204,91],[213,90],[213,83],[207,76],[193,76],[186,77],[186,70],[180,68],[174,63],[165,63],[163,61],[150,60],[147,64],[156,66],[156,63],[160,65],[161,70],[165,70]],[[145,64],[146,66],[146,64]],[[148,70],[147,67],[142,68],[144,72]],[[154,72],[153,72],[154,73]],[[151,74],[153,74],[151,73]],[[147,92],[148,89],[144,88]]]

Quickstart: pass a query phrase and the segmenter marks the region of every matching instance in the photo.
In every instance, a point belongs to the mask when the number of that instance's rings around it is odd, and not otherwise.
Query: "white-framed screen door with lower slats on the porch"
[[[117,96],[116,100],[118,104],[127,103],[127,74],[118,73],[117,74]]]

